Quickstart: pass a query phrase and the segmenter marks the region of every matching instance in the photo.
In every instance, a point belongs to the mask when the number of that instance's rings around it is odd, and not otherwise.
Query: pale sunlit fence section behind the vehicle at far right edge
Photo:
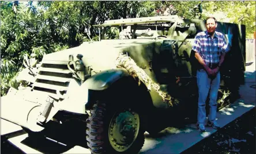
[[[246,63],[255,61],[255,39],[246,39]]]

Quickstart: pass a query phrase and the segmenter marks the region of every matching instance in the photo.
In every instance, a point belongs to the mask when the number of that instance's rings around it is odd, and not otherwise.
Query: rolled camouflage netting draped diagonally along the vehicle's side
[[[164,91],[161,91],[159,84],[153,82],[153,80],[149,78],[145,71],[137,66],[137,64],[133,59],[131,59],[131,57],[121,54],[116,60],[116,68],[124,68],[125,70],[127,70],[134,79],[139,79],[139,85],[140,81],[142,81],[146,85],[148,90],[151,90],[151,88],[153,88],[163,98],[163,101],[165,103],[168,103],[168,105],[172,106],[171,96]]]

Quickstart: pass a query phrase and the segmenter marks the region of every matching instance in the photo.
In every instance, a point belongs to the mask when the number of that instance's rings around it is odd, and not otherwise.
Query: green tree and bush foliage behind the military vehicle
[[[97,40],[93,27],[106,20],[148,16],[178,15],[193,18],[199,1],[1,1],[1,95],[17,87],[24,55],[35,53],[39,60],[46,53],[77,47]],[[219,21],[246,25],[247,37],[255,31],[255,1],[204,1],[202,17],[218,16]],[[231,9],[232,8],[232,9]],[[114,39],[118,29],[109,29]]]

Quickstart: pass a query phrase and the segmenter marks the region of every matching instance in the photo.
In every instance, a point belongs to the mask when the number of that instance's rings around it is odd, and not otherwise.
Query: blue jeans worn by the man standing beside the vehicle
[[[197,71],[197,86],[198,86],[198,124],[204,124],[206,118],[205,101],[209,93],[209,115],[208,120],[214,122],[216,120],[217,113],[217,95],[220,86],[220,72],[216,75],[216,78],[210,79],[205,70],[201,69]]]

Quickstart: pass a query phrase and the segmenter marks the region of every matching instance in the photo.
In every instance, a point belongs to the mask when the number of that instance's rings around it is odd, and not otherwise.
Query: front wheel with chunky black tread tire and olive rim
[[[86,140],[92,153],[138,153],[144,145],[144,132],[137,111],[97,101],[88,117]]]

